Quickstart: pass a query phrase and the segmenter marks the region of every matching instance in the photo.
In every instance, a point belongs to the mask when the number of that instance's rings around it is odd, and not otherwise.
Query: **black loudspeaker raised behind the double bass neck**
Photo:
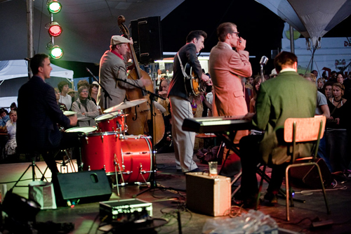
[[[135,53],[140,63],[154,63],[162,58],[161,19],[159,16],[131,21]]]

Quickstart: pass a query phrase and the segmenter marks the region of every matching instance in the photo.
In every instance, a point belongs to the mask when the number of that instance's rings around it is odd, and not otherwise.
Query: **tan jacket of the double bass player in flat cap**
[[[112,100],[107,98],[107,108],[122,103],[126,97],[126,89],[135,88],[131,84],[143,86],[143,82],[140,79],[128,79],[124,60],[121,60],[121,58],[110,51],[106,51],[100,59],[99,78],[100,84],[104,86],[112,98]],[[127,83],[117,81],[117,78],[124,79]],[[98,92],[98,105],[101,108],[105,108],[104,91],[101,87],[99,87]]]

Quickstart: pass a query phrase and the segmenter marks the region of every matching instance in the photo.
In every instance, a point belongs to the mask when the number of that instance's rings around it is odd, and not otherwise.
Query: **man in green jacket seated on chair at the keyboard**
[[[242,167],[241,192],[246,204],[253,205],[258,193],[256,165],[263,161],[272,166],[272,179],[265,199],[277,202],[277,193],[284,178],[285,162],[290,160],[284,145],[284,122],[287,118],[314,117],[317,86],[297,73],[298,58],[282,51],[274,59],[278,76],[260,84],[256,114],[246,117],[265,131],[263,136],[246,136],[240,141]],[[308,155],[311,145],[298,145],[300,155]],[[250,204],[251,203],[251,204]]]

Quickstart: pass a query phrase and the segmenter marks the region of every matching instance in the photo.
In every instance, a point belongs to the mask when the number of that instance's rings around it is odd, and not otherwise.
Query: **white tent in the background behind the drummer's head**
[[[73,71],[51,64],[51,78],[46,83],[57,87],[57,84],[66,80],[73,82]],[[9,107],[17,103],[18,89],[28,81],[28,62],[26,60],[0,61],[0,107]]]

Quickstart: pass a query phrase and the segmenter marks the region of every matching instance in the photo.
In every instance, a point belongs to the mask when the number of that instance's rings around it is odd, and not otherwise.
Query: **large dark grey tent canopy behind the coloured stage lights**
[[[99,63],[109,49],[111,36],[121,34],[119,15],[131,20],[160,16],[164,19],[184,0],[60,0],[62,11],[53,20],[62,27],[62,34],[55,37],[55,45],[65,54],[62,60]],[[46,25],[51,22],[46,0],[35,0],[33,41],[34,53],[48,53],[51,42]],[[27,8],[25,0],[0,0],[0,60],[26,58]],[[6,37],[5,37],[6,36]]]

